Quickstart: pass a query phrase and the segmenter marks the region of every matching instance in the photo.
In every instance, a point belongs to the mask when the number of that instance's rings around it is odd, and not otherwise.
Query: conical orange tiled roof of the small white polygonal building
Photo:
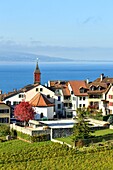
[[[45,95],[37,93],[29,102],[34,107],[50,107],[54,106]]]

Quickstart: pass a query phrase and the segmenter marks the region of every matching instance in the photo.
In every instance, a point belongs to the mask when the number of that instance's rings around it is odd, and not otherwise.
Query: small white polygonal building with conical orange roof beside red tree
[[[35,111],[35,119],[53,119],[54,118],[54,104],[42,93],[37,93],[29,103]]]

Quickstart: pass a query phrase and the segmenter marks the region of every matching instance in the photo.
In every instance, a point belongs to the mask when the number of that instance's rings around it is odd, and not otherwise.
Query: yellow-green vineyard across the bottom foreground
[[[112,170],[113,144],[79,150],[52,142],[0,143],[0,170]]]

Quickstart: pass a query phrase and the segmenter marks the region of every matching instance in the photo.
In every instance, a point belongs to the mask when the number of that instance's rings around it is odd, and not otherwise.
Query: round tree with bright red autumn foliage
[[[21,102],[14,109],[14,115],[17,120],[28,122],[30,119],[34,119],[34,110],[28,102]]]

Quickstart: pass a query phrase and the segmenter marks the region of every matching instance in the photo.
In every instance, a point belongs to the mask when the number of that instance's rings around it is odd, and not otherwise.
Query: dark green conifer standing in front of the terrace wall
[[[73,128],[74,140],[87,139],[91,137],[92,130],[86,118],[87,110],[85,108],[77,109],[77,122]]]

